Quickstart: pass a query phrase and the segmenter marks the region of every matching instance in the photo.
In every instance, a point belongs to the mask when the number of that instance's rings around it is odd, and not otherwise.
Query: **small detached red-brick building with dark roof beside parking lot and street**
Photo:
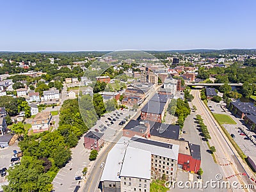
[[[99,151],[104,147],[104,134],[95,131],[89,131],[84,135],[84,147]]]

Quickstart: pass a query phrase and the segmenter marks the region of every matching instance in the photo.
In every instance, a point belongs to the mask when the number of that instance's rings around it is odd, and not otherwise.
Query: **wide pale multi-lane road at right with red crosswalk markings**
[[[232,146],[228,138],[222,132],[221,127],[218,125],[212,114],[209,112],[204,102],[200,99],[199,90],[191,90],[191,94],[195,97],[193,105],[197,108],[197,113],[204,119],[204,124],[207,126],[211,135],[209,140],[210,145],[216,148],[214,153],[218,164],[228,164],[221,166],[223,170],[223,180],[225,177],[236,175],[228,179],[230,182],[239,182],[239,184],[252,184],[249,177],[253,175],[248,166],[243,163],[243,160],[238,156],[236,149]],[[230,164],[231,163],[231,164]],[[246,175],[241,175],[246,173]],[[250,189],[232,189],[233,191],[250,191]]]

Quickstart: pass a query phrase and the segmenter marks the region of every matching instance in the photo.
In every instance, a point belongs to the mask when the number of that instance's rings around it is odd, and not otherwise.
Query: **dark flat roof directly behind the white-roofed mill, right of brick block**
[[[179,140],[179,132],[179,125],[161,124],[157,122],[150,123],[150,135],[152,136]]]

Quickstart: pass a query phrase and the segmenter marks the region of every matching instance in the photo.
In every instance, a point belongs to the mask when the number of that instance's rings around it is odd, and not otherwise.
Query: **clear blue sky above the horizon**
[[[0,51],[256,48],[255,0],[2,0],[0,7]]]

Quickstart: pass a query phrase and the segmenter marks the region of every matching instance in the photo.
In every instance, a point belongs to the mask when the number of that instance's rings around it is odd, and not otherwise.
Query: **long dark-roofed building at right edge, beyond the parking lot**
[[[230,102],[229,109],[234,115],[241,119],[244,119],[245,115],[256,115],[256,107],[250,102]]]

